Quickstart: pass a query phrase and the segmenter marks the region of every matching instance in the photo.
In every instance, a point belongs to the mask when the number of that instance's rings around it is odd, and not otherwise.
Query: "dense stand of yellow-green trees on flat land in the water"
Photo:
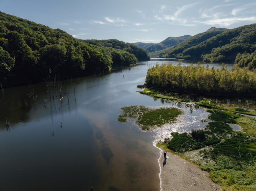
[[[203,94],[255,96],[256,73],[240,68],[237,64],[231,70],[224,65],[214,69],[199,63],[189,66],[157,64],[148,69],[146,84],[150,87]]]

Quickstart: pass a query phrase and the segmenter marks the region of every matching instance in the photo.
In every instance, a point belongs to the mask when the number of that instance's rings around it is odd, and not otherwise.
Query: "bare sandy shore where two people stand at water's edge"
[[[160,150],[158,162],[161,191],[221,191],[219,185],[209,179],[209,174],[197,165],[170,152],[167,152],[167,159],[164,162],[164,151]]]

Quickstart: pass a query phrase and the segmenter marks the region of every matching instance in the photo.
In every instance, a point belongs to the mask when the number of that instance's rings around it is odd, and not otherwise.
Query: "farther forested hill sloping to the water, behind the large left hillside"
[[[123,41],[118,41],[116,39],[109,40],[83,40],[85,43],[94,44],[100,47],[110,47],[119,50],[124,50],[131,54],[134,54],[139,61],[147,61],[150,60],[150,57],[143,48],[140,48],[132,43],[125,43]]]

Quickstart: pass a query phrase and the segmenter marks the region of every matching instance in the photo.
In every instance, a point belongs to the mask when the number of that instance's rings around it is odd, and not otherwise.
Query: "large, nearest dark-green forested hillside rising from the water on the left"
[[[132,44],[122,50],[97,46],[63,30],[0,12],[0,81],[5,87],[49,76],[63,79],[101,73],[141,58],[148,59],[147,52]]]

